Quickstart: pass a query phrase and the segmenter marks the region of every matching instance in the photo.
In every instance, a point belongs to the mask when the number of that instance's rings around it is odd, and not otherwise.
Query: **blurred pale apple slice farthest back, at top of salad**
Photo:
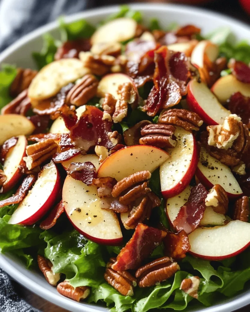
[[[121,17],[99,27],[91,37],[91,43],[122,42],[135,37],[137,22],[132,18]]]

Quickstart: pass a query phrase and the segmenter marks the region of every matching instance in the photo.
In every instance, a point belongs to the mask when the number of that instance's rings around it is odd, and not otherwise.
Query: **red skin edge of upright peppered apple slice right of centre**
[[[184,189],[190,183],[192,177],[195,174],[195,170],[196,170],[196,167],[197,167],[197,164],[199,161],[199,151],[198,151],[197,143],[196,143],[194,136],[193,136],[193,141],[194,141],[194,144],[193,144],[193,155],[192,155],[191,163],[190,163],[190,166],[189,166],[187,172],[183,176],[183,179],[181,181],[182,184],[178,183],[173,188],[166,190],[166,191],[162,191],[162,195],[166,199],[174,197],[174,196],[180,194],[182,191],[184,191]]]

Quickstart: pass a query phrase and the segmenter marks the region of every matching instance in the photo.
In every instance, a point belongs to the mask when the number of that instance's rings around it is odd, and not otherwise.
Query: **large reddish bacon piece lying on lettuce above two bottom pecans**
[[[138,269],[142,261],[161,243],[166,232],[139,223],[132,238],[117,256],[112,265],[115,271]]]

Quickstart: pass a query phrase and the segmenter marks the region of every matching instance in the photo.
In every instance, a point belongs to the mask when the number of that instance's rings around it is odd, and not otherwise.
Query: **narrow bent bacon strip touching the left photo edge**
[[[0,201],[0,208],[12,204],[18,204],[19,202],[21,202],[24,199],[24,197],[26,197],[28,191],[31,189],[36,179],[37,177],[33,174],[30,174],[27,177],[25,177],[22,181],[22,184],[19,186],[16,193],[12,197]]]

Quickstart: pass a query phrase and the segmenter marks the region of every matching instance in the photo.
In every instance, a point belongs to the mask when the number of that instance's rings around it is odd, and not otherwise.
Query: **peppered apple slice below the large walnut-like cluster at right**
[[[220,184],[230,198],[236,198],[242,195],[242,189],[230,168],[210,156],[203,147],[200,151],[196,176],[206,188],[210,189],[215,184]]]

